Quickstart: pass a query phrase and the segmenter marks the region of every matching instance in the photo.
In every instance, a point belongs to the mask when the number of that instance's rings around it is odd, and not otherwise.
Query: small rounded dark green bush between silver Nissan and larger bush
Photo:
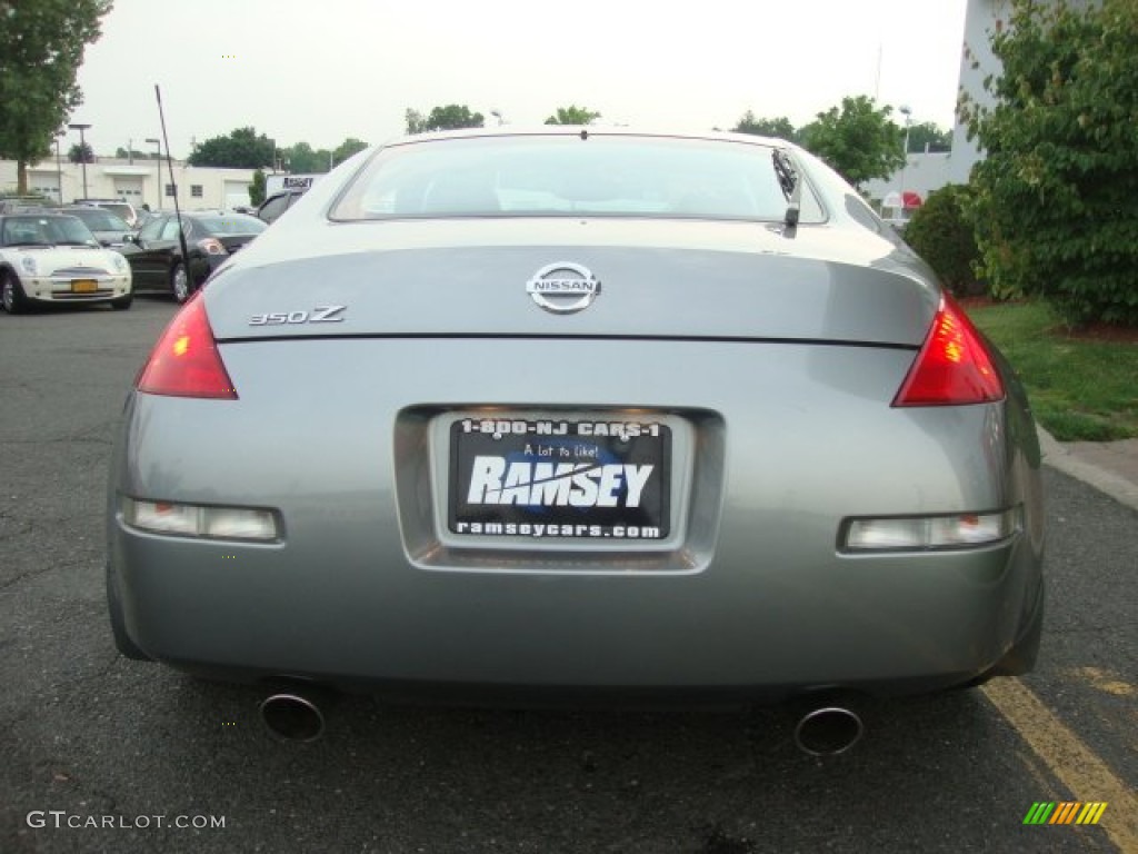
[[[905,241],[929,262],[956,296],[987,290],[976,282],[979,251],[972,221],[964,213],[968,188],[949,184],[929,196],[905,227]]]

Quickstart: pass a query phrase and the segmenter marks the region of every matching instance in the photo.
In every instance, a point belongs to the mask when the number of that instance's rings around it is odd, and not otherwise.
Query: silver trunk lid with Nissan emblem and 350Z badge
[[[896,245],[861,229],[800,228],[790,238],[756,223],[494,220],[354,223],[325,233],[310,241],[327,246],[318,255],[266,232],[218,276],[206,291],[217,339],[677,337],[916,347],[939,302],[931,279],[904,271]],[[546,310],[530,293],[535,280],[587,274],[599,282],[591,302],[560,301],[580,303],[577,311]]]

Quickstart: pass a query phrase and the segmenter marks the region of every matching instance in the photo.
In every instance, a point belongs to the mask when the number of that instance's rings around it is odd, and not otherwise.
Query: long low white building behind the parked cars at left
[[[174,184],[178,204],[187,211],[197,208],[234,207],[249,204],[251,169],[215,169],[188,166],[174,161],[174,180],[165,161],[135,158],[133,163],[115,157],[97,157],[86,164],[86,189],[83,166],[66,159],[50,158],[27,167],[28,192],[40,194],[57,202],[76,198],[117,198],[134,207],[143,203],[152,210],[174,206]],[[160,174],[159,174],[160,171]],[[0,161],[0,192],[16,191],[16,162]]]

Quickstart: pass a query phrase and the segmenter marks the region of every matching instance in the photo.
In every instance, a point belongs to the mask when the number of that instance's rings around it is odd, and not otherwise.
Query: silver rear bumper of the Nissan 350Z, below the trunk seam
[[[132,399],[113,463],[110,567],[125,629],[154,658],[396,695],[912,692],[995,667],[1037,607],[1038,460],[1011,404],[890,411],[881,400],[910,354],[756,360],[748,379],[777,402],[750,409],[737,403],[737,373],[721,370],[742,345],[683,369],[702,378],[699,410],[684,405],[691,388],[671,400],[674,364],[644,371],[633,403],[693,426],[683,537],[662,557],[632,548],[552,559],[455,550],[431,533],[431,471],[442,463],[415,419],[470,401],[512,404],[506,375],[461,383],[445,370],[493,364],[471,351],[502,345],[428,342],[409,355],[406,343],[337,344],[330,352],[345,363],[370,348],[360,363],[442,367],[385,372],[370,393],[371,380],[322,363],[325,345],[312,342],[303,359],[279,348],[274,387],[242,383],[246,356],[272,347],[233,347],[225,359],[239,402]],[[402,353],[378,359],[377,346]],[[597,363],[628,363],[618,342],[552,343],[550,363],[579,363],[584,348]],[[867,377],[882,375],[883,388],[871,388]],[[803,376],[824,388],[794,386]],[[324,404],[299,412],[287,392],[310,383]],[[426,405],[423,387],[446,402]],[[551,407],[629,403],[626,381],[597,373],[566,372],[545,394]],[[840,417],[819,416],[816,394],[839,395]],[[123,523],[122,494],[277,508],[284,537],[250,545],[143,533]],[[850,516],[999,508],[1021,508],[1023,526],[984,548],[856,557],[838,548]]]

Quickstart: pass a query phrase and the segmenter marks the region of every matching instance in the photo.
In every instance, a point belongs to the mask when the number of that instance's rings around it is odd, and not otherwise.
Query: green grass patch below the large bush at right
[[[1072,337],[1042,303],[973,306],[968,315],[1007,356],[1055,438],[1138,437],[1138,343]]]

